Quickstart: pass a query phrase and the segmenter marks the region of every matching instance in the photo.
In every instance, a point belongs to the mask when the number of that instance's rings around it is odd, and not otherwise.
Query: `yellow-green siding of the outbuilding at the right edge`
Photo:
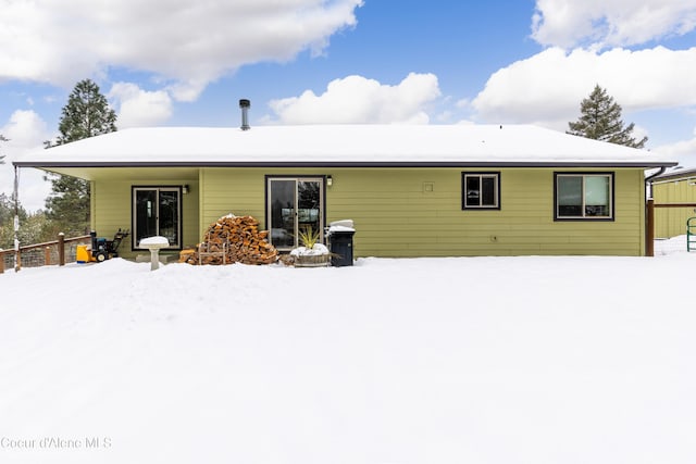
[[[695,177],[656,183],[652,185],[655,203],[696,203]],[[686,220],[696,216],[694,206],[656,208],[655,237],[670,238],[686,234]]]

